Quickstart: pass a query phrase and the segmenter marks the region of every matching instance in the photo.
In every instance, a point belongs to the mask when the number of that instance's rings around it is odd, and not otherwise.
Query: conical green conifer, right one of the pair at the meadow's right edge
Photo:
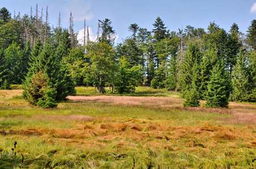
[[[217,63],[212,68],[210,81],[207,85],[206,106],[212,108],[228,107],[230,83],[223,62],[217,60]]]

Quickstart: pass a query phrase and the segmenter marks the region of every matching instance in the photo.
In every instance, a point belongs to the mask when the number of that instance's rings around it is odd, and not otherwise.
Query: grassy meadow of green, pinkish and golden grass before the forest
[[[76,90],[54,109],[0,91],[0,168],[256,168],[256,104],[184,108],[177,92],[150,87]]]

